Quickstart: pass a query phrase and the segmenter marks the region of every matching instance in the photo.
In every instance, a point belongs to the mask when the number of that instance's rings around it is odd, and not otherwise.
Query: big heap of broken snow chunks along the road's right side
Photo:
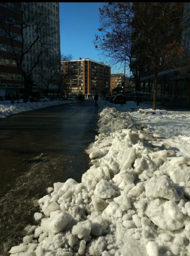
[[[82,182],[47,189],[11,255],[190,255],[190,157],[155,146],[159,134],[116,108],[100,112],[98,128]]]

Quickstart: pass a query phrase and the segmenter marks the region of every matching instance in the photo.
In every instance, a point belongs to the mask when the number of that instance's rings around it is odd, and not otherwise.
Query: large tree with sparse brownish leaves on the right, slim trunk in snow
[[[99,31],[104,35],[96,36],[96,48],[115,61],[119,61],[120,52],[130,65],[138,87],[141,67],[152,66],[155,76],[153,109],[156,109],[158,73],[180,68],[185,58],[181,47],[182,30],[189,23],[184,19],[185,6],[184,2],[111,2],[100,9],[102,28]],[[188,66],[187,58],[185,62]]]

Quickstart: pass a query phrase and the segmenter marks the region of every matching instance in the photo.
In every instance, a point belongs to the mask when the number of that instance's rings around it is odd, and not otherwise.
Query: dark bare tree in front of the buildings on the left
[[[45,47],[48,45],[47,37],[53,33],[48,16],[49,14],[45,11],[43,5],[33,2],[20,3],[19,8],[15,12],[15,17],[11,20],[9,19],[5,22],[4,15],[0,16],[0,25],[6,37],[4,47],[1,50],[5,50],[12,55],[14,60],[16,60],[18,69],[23,74],[24,102],[27,102],[32,90],[32,72],[39,63]],[[20,28],[19,34],[12,32],[14,31],[14,26]],[[33,37],[29,42],[26,36],[28,27],[34,28]],[[19,47],[16,48],[16,44]],[[26,70],[23,66],[24,57],[31,51],[35,52],[33,62],[31,62],[30,69]]]

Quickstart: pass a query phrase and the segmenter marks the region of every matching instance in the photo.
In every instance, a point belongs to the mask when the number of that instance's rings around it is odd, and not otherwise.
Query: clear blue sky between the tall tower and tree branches
[[[61,54],[72,54],[73,60],[89,58],[97,62],[104,61],[92,42],[95,34],[98,34],[99,7],[102,8],[103,4],[103,2],[59,3]],[[104,64],[108,63],[104,61]],[[116,67],[111,68],[111,73],[124,72],[122,68],[119,70]]]

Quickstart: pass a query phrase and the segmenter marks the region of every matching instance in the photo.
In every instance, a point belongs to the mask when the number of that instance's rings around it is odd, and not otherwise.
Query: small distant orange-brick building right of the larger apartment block
[[[122,83],[124,83],[124,73],[111,74],[110,93],[112,93],[113,89],[121,87]],[[131,82],[129,82],[129,77],[125,76],[125,90],[129,90],[130,85]]]

